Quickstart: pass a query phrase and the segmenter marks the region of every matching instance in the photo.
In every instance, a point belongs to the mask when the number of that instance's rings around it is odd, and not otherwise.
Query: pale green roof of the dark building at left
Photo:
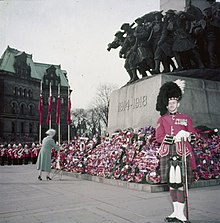
[[[7,47],[0,59],[0,70],[16,73],[14,68],[15,57],[21,55],[22,51]],[[31,77],[43,81],[43,77],[46,74],[46,70],[53,64],[44,64],[34,62],[32,59],[32,54],[27,54],[27,64],[31,67]],[[66,77],[67,72],[61,69],[60,65],[53,65],[56,68],[56,75],[60,77],[61,86],[68,86],[68,79]]]

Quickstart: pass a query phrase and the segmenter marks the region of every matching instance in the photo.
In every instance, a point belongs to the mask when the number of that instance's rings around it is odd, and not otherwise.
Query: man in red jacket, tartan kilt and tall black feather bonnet
[[[184,214],[186,197],[183,190],[181,140],[185,141],[187,178],[191,183],[192,170],[196,169],[191,144],[195,142],[196,131],[190,116],[178,112],[184,87],[185,82],[181,80],[163,84],[156,104],[156,110],[160,111],[161,115],[156,128],[156,140],[161,143],[159,150],[161,183],[168,184],[174,209],[173,213],[165,218],[166,222],[189,222]]]

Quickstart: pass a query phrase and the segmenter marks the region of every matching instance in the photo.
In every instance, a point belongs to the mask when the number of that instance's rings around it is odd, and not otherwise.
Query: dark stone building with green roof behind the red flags
[[[42,81],[43,122],[46,125],[49,85],[52,86],[53,106],[51,127],[57,129],[56,104],[58,84],[61,97],[61,141],[67,140],[68,79],[60,65],[37,63],[32,55],[7,47],[0,59],[0,142],[36,142],[39,140],[40,86]]]

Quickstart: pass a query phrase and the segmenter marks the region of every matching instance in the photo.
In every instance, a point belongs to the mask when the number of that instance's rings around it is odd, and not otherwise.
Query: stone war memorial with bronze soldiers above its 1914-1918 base
[[[108,44],[130,78],[110,96],[109,133],[155,128],[159,89],[177,79],[186,84],[179,112],[190,114],[194,127],[220,127],[220,3],[180,2],[176,10],[161,1],[164,10],[122,24]]]

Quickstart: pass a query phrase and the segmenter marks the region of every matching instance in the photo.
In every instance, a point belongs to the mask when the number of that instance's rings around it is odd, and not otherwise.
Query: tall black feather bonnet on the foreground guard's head
[[[164,115],[167,113],[167,105],[169,100],[174,99],[180,101],[181,98],[181,88],[174,82],[166,82],[161,86],[157,96],[156,110],[160,112],[160,115]]]

